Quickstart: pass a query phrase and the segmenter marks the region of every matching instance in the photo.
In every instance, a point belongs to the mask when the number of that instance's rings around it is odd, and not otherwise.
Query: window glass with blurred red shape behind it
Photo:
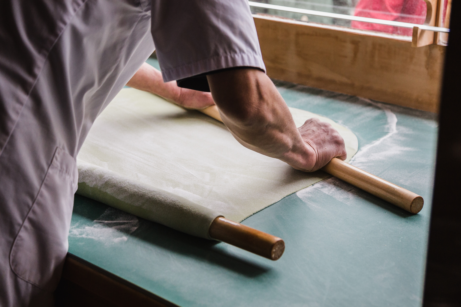
[[[320,12],[331,12],[349,16],[376,18],[404,23],[423,24],[426,19],[426,2],[424,0],[253,0],[254,2],[288,6]],[[435,8],[434,8],[435,9]],[[411,36],[413,29],[395,27],[377,23],[366,23],[341,18],[315,16],[298,12],[285,12],[268,8],[251,7],[253,13],[264,13],[296,20],[346,26]]]

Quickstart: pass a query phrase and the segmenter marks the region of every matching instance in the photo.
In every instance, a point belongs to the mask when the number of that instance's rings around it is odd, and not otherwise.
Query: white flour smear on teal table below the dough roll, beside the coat
[[[127,241],[125,234],[134,232],[139,227],[138,218],[118,209],[107,208],[94,220],[92,226],[79,227],[79,223],[71,226],[69,237],[90,238],[105,244]]]

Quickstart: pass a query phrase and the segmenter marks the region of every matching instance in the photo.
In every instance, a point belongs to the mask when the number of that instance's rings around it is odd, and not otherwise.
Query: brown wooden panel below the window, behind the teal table
[[[254,18],[267,74],[438,112],[445,46]]]

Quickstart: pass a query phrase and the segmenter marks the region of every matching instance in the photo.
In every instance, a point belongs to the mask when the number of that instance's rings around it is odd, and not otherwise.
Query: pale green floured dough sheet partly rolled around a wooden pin
[[[317,117],[290,108],[296,126]],[[330,175],[305,173],[240,145],[224,124],[153,94],[124,88],[96,119],[77,156],[77,194],[198,237],[218,216],[242,221]]]

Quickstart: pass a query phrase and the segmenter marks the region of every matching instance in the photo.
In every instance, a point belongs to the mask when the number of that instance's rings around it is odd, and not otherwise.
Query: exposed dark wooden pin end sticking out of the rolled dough
[[[229,243],[270,260],[279,259],[285,250],[285,243],[281,238],[227,220],[222,216],[213,220],[209,233],[213,239]]]

